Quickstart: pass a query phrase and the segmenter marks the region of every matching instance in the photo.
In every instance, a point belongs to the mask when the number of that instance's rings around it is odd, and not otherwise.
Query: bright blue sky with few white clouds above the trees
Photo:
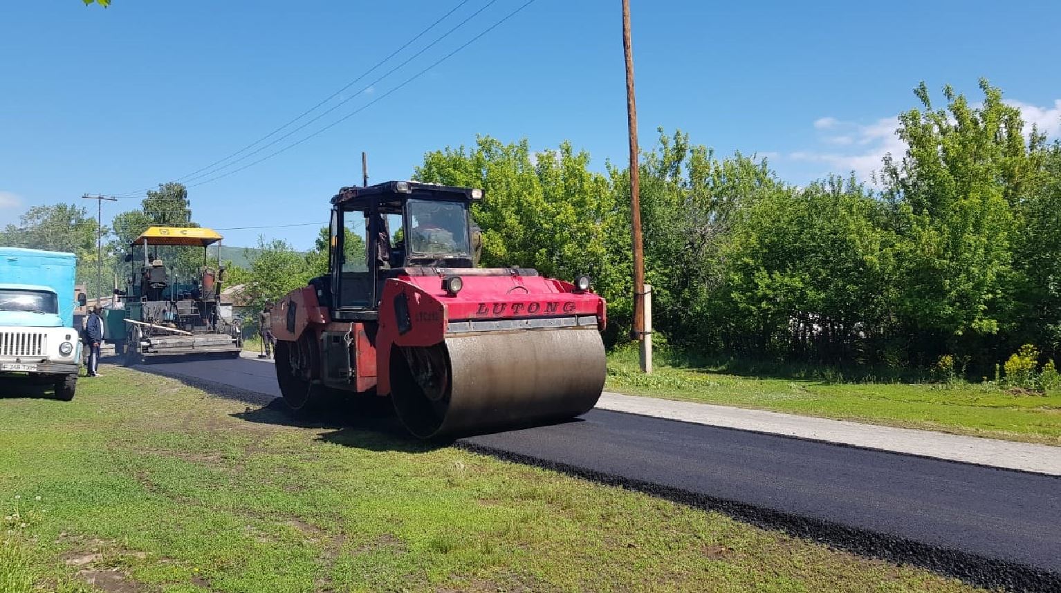
[[[317,123],[223,174],[421,77],[328,132],[244,171],[190,188],[198,222],[269,226],[327,219],[360,181],[407,178],[427,151],[476,134],[571,140],[603,169],[626,157],[620,2],[494,0],[390,76],[383,74],[484,7],[469,0],[353,85]],[[81,0],[0,3],[0,224],[29,206],[85,202],[178,179],[288,122],[356,79],[459,0]],[[681,128],[719,154],[767,155],[797,184],[866,176],[894,140],[911,89],[986,76],[1054,136],[1061,128],[1061,3],[977,0],[705,2],[632,0],[642,145]],[[189,181],[203,181],[208,175]],[[86,202],[87,206],[94,204]],[[139,206],[107,204],[104,217]],[[225,231],[312,244],[312,226]]]

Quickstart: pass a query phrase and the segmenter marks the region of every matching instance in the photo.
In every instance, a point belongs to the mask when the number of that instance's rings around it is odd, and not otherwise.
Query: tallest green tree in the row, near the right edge
[[[900,116],[907,144],[884,163],[885,197],[904,242],[900,318],[934,359],[973,350],[1015,321],[1013,242],[1016,207],[1040,182],[1044,139],[1025,136],[1019,109],[980,81],[984,102],[969,104],[950,86],[945,108],[922,104]]]

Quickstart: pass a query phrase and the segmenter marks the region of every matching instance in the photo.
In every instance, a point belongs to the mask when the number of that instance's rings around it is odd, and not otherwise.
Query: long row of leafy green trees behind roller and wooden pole
[[[804,188],[764,159],[719,158],[660,130],[642,155],[646,279],[657,331],[701,352],[987,371],[1022,344],[1061,353],[1061,145],[981,81],[971,103],[927,87],[899,118],[908,149],[880,189]],[[484,265],[589,273],[611,341],[630,321],[629,171],[570,143],[480,137],[428,153],[424,181],[480,187]]]

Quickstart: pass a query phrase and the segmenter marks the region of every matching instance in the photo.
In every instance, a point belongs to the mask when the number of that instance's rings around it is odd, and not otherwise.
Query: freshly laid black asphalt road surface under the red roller
[[[141,368],[243,389],[254,403],[279,395],[273,365],[260,361]],[[1061,591],[1057,477],[599,409],[456,446],[976,585]]]

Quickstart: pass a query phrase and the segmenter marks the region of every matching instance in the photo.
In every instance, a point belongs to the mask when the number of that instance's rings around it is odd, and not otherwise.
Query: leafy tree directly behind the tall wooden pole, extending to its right
[[[730,322],[720,307],[720,249],[733,221],[764,195],[781,191],[766,162],[741,154],[724,159],[678,130],[661,128],[653,150],[641,158],[641,219],[645,278],[653,286],[657,331],[672,341],[700,349],[717,349]],[[609,178],[621,212],[615,259],[618,273],[629,278],[629,171],[609,165]],[[632,286],[625,302],[631,302]]]

